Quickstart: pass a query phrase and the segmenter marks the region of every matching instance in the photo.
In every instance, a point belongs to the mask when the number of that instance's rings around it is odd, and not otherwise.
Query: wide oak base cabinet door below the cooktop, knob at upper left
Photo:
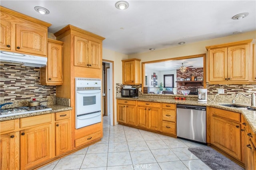
[[[52,124],[22,130],[20,134],[21,169],[31,168],[53,158]]]

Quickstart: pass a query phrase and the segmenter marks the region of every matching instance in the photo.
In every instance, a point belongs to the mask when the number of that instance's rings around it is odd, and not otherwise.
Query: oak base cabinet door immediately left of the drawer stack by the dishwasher
[[[160,131],[160,109],[150,107],[148,108],[148,128]]]

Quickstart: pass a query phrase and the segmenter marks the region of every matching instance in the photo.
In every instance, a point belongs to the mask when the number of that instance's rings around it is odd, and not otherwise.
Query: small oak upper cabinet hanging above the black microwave
[[[140,59],[122,60],[123,84],[141,84]]]

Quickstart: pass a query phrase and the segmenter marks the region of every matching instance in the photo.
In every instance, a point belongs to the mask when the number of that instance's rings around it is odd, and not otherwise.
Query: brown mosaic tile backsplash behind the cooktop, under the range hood
[[[56,96],[56,86],[40,84],[40,68],[0,64],[0,101]]]

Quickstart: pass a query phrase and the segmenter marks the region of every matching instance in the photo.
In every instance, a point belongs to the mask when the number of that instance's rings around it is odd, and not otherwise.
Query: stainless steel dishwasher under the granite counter
[[[177,105],[177,137],[206,144],[206,107]]]

